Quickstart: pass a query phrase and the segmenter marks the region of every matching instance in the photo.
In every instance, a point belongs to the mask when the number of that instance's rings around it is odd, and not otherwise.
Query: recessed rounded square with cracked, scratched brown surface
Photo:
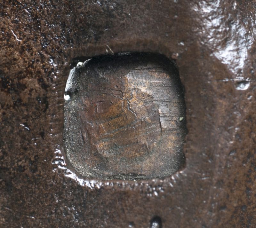
[[[175,64],[158,54],[94,57],[70,71],[64,146],[83,177],[166,177],[184,163],[185,103]]]

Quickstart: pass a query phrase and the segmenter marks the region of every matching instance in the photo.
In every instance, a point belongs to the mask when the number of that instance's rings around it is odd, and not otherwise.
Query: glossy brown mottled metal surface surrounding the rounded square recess
[[[1,227],[255,227],[255,5],[1,1]],[[72,59],[176,59],[185,168],[163,180],[76,177],[63,149]]]

